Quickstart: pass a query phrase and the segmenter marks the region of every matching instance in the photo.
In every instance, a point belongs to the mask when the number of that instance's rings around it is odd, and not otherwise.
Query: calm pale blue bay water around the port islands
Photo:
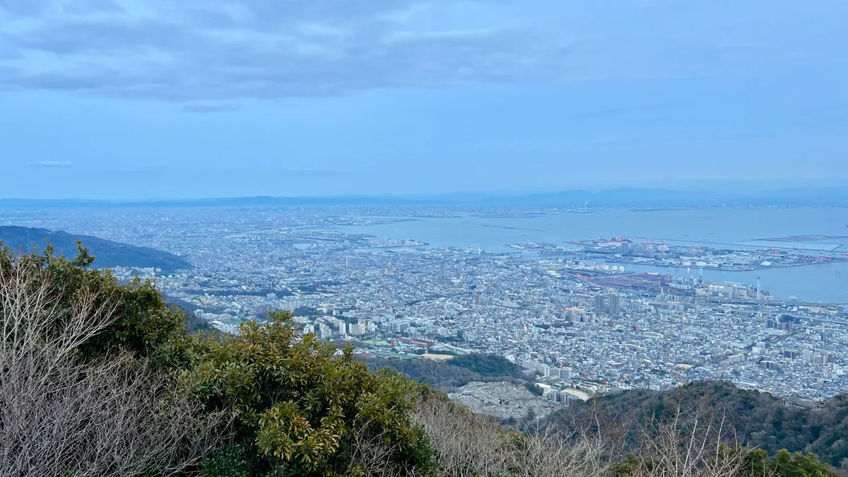
[[[431,247],[480,247],[487,252],[511,250],[507,244],[565,244],[567,240],[616,235],[711,244],[762,244],[756,241],[800,235],[848,237],[848,209],[603,210],[516,218],[424,218],[413,222],[340,227],[340,230],[371,233],[387,239],[417,239]],[[842,245],[836,250],[848,252],[848,238],[771,244],[785,247],[809,244],[809,248],[826,250]],[[635,272],[688,274],[685,268],[625,267]],[[756,277],[762,277],[762,288],[776,296],[796,295],[804,300],[848,303],[848,263],[845,262],[756,272],[704,271],[707,280],[755,283]]]

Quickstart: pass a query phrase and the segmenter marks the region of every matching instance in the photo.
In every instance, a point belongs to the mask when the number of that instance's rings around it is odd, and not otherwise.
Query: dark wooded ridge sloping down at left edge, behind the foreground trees
[[[88,235],[75,235],[63,230],[50,231],[46,228],[30,227],[0,227],[0,242],[14,251],[32,250],[32,245],[38,245],[44,250],[47,242],[53,245],[57,253],[66,257],[76,256],[76,240],[82,241],[94,255],[94,267],[154,267],[163,272],[173,272],[181,268],[191,268],[192,264],[181,256],[148,247],[137,247],[121,244],[111,240],[98,239]],[[45,241],[47,240],[47,241]]]

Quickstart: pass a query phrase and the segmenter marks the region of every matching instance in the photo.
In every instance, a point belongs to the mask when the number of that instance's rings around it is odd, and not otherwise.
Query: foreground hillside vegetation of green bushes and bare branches
[[[285,313],[188,334],[153,283],[77,251],[0,252],[0,475],[836,475],[737,444],[715,408],[644,419],[635,440],[591,418],[504,429]],[[466,364],[502,372],[487,363]]]

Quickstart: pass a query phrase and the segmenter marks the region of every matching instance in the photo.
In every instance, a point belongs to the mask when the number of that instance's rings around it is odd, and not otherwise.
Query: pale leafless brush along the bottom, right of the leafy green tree
[[[432,441],[440,477],[739,477],[749,452],[726,419],[701,408],[649,420],[629,458],[621,429],[596,420],[566,435],[550,426],[519,434],[439,399],[423,401],[414,420]]]

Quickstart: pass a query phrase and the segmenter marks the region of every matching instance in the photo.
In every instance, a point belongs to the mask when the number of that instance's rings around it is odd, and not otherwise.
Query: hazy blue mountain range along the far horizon
[[[686,207],[686,206],[846,206],[848,188],[781,188],[766,191],[717,192],[661,188],[613,188],[600,192],[567,190],[541,194],[436,194],[415,196],[346,195],[332,197],[233,197],[109,201],[81,199],[0,199],[0,208],[47,207],[238,207],[310,205],[465,205],[592,207]]]

